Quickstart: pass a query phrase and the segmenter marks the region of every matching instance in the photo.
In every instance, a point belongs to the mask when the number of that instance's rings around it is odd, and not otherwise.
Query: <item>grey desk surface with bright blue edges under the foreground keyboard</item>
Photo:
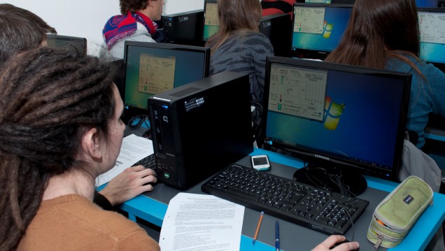
[[[295,158],[258,148],[255,148],[251,155],[264,153],[269,155],[272,165],[270,172],[275,175],[291,178],[295,171],[295,167],[299,168],[302,166],[302,162],[299,162],[299,160]],[[249,157],[241,159],[239,164],[250,166]],[[365,178],[368,182],[368,188],[358,197],[369,201],[369,206],[365,210],[365,213],[363,213],[358,221],[355,222],[354,227],[348,230],[346,238],[358,241],[360,243],[360,250],[372,250],[373,245],[367,241],[366,238],[366,232],[369,227],[369,222],[371,222],[372,213],[377,204],[388,194],[388,192],[397,186],[397,183],[368,176]],[[170,199],[178,194],[178,192],[202,194],[201,185],[203,182],[200,182],[185,191],[179,191],[162,183],[157,184],[155,185],[153,192],[147,192],[141,196],[137,196],[122,204],[121,208],[129,213],[129,217],[132,220],[135,220],[135,217],[140,217],[143,220],[161,227]],[[241,233],[240,250],[274,250],[274,224],[277,218],[271,215],[264,215],[257,243],[255,243],[254,246],[252,245],[252,238],[255,234],[255,227],[259,215],[260,212],[246,208]],[[443,194],[435,193],[434,205],[430,206],[425,213],[423,213],[414,228],[408,234],[407,238],[405,238],[405,240],[396,248],[388,250],[423,250],[426,245],[428,245],[437,229],[442,225],[444,219],[445,196]],[[300,227],[297,224],[292,224],[285,220],[280,220],[280,229],[282,250],[295,250],[295,247],[299,247],[299,250],[311,250],[311,248],[314,248],[318,243],[327,238],[326,234]],[[382,248],[382,250],[384,249]]]

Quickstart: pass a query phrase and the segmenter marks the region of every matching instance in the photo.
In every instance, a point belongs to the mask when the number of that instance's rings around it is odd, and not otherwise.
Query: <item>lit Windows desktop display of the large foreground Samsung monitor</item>
[[[390,173],[401,156],[406,77],[279,62],[269,67],[265,143]]]

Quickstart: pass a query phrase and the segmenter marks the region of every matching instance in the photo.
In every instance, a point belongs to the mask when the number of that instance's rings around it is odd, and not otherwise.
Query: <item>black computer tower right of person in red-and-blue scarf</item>
[[[203,46],[204,10],[162,16],[165,43]]]

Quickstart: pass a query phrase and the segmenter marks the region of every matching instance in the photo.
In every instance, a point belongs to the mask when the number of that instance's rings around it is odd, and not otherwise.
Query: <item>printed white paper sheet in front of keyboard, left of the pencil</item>
[[[161,250],[239,251],[244,206],[208,194],[179,193],[162,222]]]

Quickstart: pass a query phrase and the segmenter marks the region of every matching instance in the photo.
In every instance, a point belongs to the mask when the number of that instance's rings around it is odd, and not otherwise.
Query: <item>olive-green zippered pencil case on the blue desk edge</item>
[[[372,215],[367,238],[375,244],[374,250],[399,245],[432,204],[432,194],[431,187],[417,176],[409,176],[395,187]]]

